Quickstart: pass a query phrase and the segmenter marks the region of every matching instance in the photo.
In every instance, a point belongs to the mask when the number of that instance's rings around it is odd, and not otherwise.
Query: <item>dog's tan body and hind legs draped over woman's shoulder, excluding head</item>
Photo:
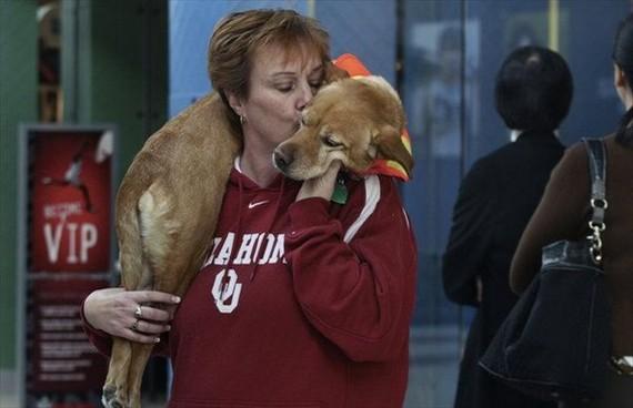
[[[148,139],[117,195],[121,277],[127,289],[184,294],[213,239],[241,131],[218,94],[195,102]],[[231,136],[233,135],[233,136]],[[152,345],[114,337],[105,407],[140,407]]]

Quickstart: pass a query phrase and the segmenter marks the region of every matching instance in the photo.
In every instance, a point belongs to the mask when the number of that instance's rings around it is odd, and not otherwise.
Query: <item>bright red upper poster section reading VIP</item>
[[[31,137],[30,272],[110,269],[112,165],[102,137],[107,132]]]

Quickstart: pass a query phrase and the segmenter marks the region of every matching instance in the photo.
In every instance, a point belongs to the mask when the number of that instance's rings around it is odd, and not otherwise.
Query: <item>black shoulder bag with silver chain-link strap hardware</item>
[[[584,143],[591,233],[543,247],[541,272],[479,363],[502,382],[540,399],[597,398],[609,369],[610,306],[601,267],[606,154],[602,140]]]

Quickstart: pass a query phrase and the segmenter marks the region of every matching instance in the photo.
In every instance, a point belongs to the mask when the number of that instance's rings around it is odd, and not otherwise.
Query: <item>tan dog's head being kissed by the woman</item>
[[[404,110],[380,76],[342,79],[319,91],[302,113],[301,128],[273,153],[287,176],[321,176],[339,160],[356,174],[376,159],[393,160],[411,174],[413,159],[402,144]]]

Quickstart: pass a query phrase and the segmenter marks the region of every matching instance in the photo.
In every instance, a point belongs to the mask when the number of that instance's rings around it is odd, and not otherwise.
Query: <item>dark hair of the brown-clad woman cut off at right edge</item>
[[[631,89],[631,80],[633,80],[633,14],[624,19],[617,28],[613,43],[613,62],[624,72],[627,85]],[[624,113],[615,133],[615,141],[626,146],[633,145],[631,120],[633,120],[633,108]]]

